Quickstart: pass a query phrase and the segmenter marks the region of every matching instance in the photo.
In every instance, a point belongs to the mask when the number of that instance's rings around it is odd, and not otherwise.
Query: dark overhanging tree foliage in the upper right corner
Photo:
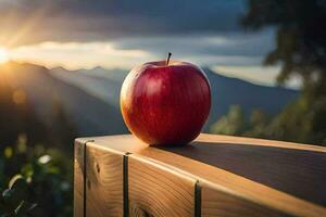
[[[266,64],[281,63],[278,80],[291,74],[304,81],[315,75],[325,77],[326,69],[326,3],[319,0],[250,0],[242,20],[248,28],[276,26],[276,48]]]

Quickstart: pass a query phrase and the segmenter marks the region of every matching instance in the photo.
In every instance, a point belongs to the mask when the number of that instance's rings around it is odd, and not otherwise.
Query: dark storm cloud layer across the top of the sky
[[[28,37],[10,46],[233,33],[243,11],[243,0],[0,0],[0,42],[20,31]]]

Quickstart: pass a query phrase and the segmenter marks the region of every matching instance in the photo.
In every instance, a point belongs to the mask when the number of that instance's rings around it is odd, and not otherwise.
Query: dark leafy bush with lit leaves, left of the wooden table
[[[0,216],[72,216],[71,157],[26,143],[21,135],[15,145],[0,149]]]

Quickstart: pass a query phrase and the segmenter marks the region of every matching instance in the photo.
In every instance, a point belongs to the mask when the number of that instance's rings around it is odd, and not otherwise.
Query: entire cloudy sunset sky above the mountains
[[[246,0],[0,0],[0,48],[11,60],[68,69],[130,69],[172,52],[273,86],[279,66],[262,61],[275,29],[243,29],[246,11]]]

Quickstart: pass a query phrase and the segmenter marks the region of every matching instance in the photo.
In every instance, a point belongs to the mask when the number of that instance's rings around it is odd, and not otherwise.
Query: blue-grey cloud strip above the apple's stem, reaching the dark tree
[[[274,29],[259,33],[222,33],[215,35],[170,36],[153,38],[129,38],[115,40],[116,49],[143,49],[156,55],[172,51],[191,55],[243,55],[261,58],[273,50]]]

